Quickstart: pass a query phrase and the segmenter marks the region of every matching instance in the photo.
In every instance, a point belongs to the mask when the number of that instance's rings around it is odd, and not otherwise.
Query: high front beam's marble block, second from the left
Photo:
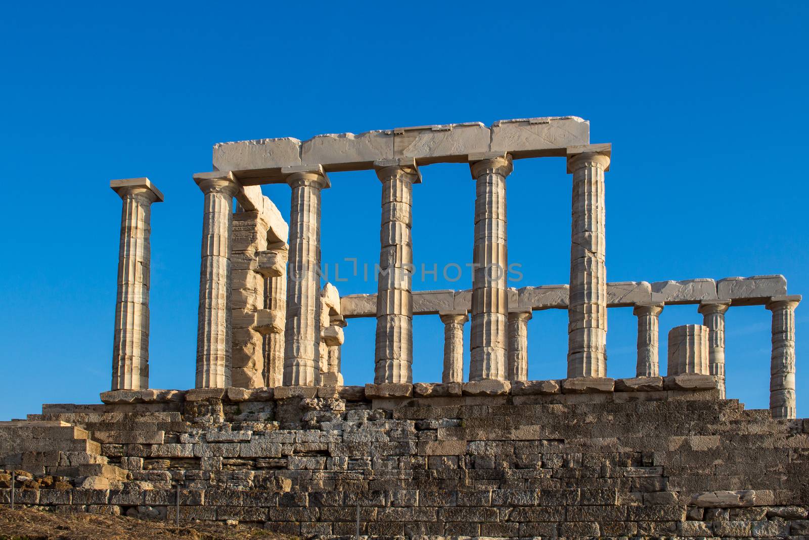
[[[323,134],[301,143],[301,162],[321,164],[328,171],[371,168],[375,160],[392,157],[392,130]]]

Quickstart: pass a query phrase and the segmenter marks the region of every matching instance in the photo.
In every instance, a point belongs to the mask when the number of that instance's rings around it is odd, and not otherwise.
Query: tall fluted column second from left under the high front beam
[[[331,184],[320,167],[284,170],[292,188],[284,385],[313,386],[320,380],[320,191]]]

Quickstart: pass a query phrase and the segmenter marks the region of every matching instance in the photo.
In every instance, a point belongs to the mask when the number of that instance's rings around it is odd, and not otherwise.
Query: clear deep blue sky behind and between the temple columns
[[[193,386],[202,196],[215,142],[575,115],[612,142],[609,281],[785,274],[809,293],[805,2],[13,2],[0,32],[0,419],[109,388],[121,213],[112,178],[149,176],[151,385]],[[422,169],[416,263],[472,254],[464,165]],[[570,176],[522,160],[508,181],[521,285],[566,283]],[[379,256],[373,172],[323,195],[324,261]],[[289,215],[289,189],[265,193]],[[468,282],[468,275],[465,278]],[[417,289],[465,288],[415,283]],[[374,292],[350,279],[341,293]],[[565,374],[566,316],[535,313],[529,375]],[[666,308],[667,331],[697,323]],[[728,396],[768,406],[769,312],[727,315]],[[417,381],[440,378],[443,326],[414,323]],[[809,307],[798,308],[798,415]],[[608,371],[632,376],[636,321],[609,313]],[[373,320],[350,321],[346,382],[372,379]]]

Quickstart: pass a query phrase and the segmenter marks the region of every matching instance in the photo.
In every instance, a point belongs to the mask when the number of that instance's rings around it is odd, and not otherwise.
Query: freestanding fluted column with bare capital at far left
[[[150,216],[163,193],[148,178],[109,183],[123,201],[118,247],[118,294],[112,344],[112,389],[149,388]]]

